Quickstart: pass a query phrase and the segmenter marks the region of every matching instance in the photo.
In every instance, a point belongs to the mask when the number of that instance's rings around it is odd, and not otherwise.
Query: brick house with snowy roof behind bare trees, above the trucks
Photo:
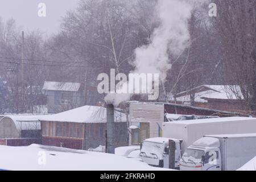
[[[232,92],[236,90],[236,93]],[[206,107],[218,110],[244,110],[242,94],[239,86],[201,85],[175,95],[177,104]],[[237,97],[240,97],[239,99]]]

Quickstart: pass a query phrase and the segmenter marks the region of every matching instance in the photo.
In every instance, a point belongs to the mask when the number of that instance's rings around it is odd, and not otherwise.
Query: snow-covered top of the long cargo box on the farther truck
[[[225,118],[208,118],[208,119],[194,119],[194,120],[184,120],[184,121],[172,121],[172,122],[165,122],[171,124],[178,124],[178,125],[193,125],[193,124],[201,124],[201,123],[215,123],[215,122],[229,122],[229,121],[255,121],[256,118],[249,118],[249,117],[225,117]]]

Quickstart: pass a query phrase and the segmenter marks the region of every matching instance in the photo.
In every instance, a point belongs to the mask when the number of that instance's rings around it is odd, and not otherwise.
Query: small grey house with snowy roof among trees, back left
[[[44,82],[48,113],[59,113],[85,105],[83,86],[73,82]]]

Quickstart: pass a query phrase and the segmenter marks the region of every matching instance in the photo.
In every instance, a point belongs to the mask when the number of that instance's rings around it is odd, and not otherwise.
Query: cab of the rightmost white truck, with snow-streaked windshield
[[[220,171],[220,141],[203,137],[189,146],[180,159],[180,169],[184,171]]]

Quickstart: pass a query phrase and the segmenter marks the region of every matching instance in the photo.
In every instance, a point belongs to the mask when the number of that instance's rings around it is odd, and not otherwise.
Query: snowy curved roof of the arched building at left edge
[[[39,119],[46,117],[47,115],[5,115],[1,118],[0,122],[5,118],[10,118],[17,130],[40,130],[41,125]]]

